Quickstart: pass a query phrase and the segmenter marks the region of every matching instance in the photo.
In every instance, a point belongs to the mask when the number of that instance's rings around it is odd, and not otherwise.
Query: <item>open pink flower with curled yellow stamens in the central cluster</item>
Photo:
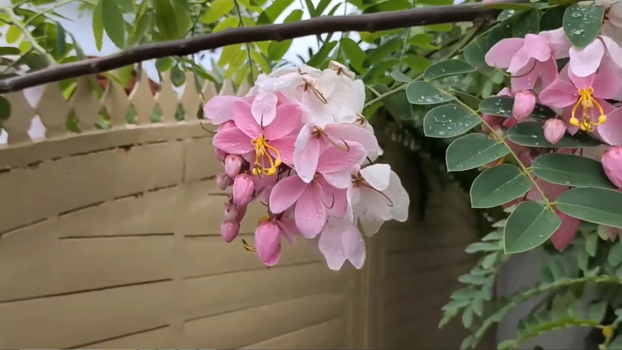
[[[300,128],[302,108],[298,103],[277,105],[276,117],[270,125],[260,125],[251,113],[251,104],[238,100],[231,106],[236,128],[218,131],[215,147],[230,154],[242,154],[254,160],[253,174],[272,175],[282,163],[292,165],[294,135]]]

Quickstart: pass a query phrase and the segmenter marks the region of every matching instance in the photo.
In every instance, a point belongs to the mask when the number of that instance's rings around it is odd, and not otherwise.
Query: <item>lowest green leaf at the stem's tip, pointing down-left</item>
[[[544,243],[562,220],[537,202],[522,202],[508,217],[503,231],[506,254],[526,252]]]

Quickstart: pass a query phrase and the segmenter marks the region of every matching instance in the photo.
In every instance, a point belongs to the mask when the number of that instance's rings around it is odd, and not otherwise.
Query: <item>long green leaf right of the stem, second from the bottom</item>
[[[599,161],[575,154],[543,154],[533,162],[532,168],[537,177],[554,184],[572,187],[614,187]]]

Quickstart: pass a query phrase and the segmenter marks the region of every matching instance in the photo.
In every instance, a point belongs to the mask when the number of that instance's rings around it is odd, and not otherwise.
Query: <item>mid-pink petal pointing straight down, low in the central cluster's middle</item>
[[[316,182],[312,182],[302,191],[296,202],[294,218],[300,233],[308,239],[322,231],[326,223],[326,207],[322,203],[322,187]]]

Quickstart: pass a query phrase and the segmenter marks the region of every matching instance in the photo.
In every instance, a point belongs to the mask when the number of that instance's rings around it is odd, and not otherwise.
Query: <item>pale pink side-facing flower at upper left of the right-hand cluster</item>
[[[486,64],[491,67],[507,68],[514,75],[512,91],[533,90],[538,78],[543,86],[557,77],[557,64],[546,37],[527,34],[524,39],[500,40],[486,53]]]

